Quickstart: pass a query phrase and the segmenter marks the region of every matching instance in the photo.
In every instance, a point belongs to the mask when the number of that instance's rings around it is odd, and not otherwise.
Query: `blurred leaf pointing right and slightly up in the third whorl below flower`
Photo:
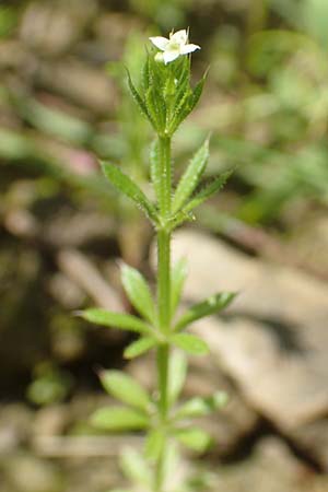
[[[176,418],[204,417],[220,410],[227,403],[227,395],[216,391],[209,397],[195,397],[184,403],[176,412]]]

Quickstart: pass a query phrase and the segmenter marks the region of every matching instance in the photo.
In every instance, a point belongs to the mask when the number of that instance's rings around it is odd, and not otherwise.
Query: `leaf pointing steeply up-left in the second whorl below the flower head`
[[[136,268],[122,265],[121,281],[136,309],[153,325],[156,323],[154,301],[144,277]]]

